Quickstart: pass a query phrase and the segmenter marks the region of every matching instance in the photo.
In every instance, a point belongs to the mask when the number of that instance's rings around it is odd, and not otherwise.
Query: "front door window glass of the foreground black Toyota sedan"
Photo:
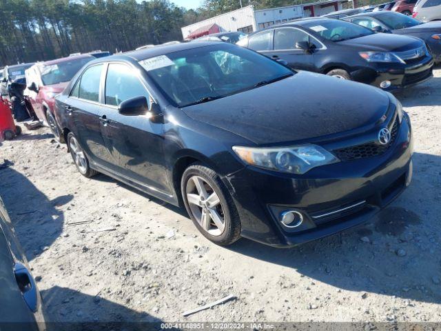
[[[146,97],[149,100],[147,90],[132,68],[123,63],[110,63],[105,78],[105,103],[119,106],[121,102],[134,97]]]

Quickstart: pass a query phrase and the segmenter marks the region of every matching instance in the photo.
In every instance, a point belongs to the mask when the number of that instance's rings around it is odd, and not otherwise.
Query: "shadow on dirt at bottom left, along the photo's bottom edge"
[[[160,330],[161,319],[136,312],[101,294],[89,295],[54,286],[42,290],[47,331],[63,330]]]

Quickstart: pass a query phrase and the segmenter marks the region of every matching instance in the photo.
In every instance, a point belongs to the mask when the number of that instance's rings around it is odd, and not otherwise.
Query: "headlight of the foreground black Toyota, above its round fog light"
[[[333,154],[317,145],[302,145],[287,148],[252,148],[234,146],[234,152],[245,163],[256,167],[305,174],[320,165],[336,163]]]

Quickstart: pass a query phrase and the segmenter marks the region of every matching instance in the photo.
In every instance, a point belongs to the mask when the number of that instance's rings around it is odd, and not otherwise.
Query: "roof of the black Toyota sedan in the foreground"
[[[144,59],[149,59],[151,57],[158,57],[160,55],[170,54],[174,52],[179,52],[181,50],[192,50],[194,48],[201,48],[205,46],[216,45],[216,42],[201,41],[199,43],[175,43],[172,45],[159,45],[152,48],[145,48],[142,50],[132,50],[130,52],[125,52],[123,54],[115,54],[110,57],[105,57],[101,61],[111,61],[112,59],[123,59],[124,57],[130,57],[136,61],[141,61]],[[101,62],[100,61],[100,62]],[[94,62],[96,63],[96,62]]]

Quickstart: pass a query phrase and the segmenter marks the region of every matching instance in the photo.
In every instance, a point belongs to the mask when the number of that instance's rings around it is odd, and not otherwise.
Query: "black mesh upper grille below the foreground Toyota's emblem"
[[[378,157],[384,154],[395,141],[398,133],[398,118],[396,117],[391,130],[391,141],[387,145],[378,145],[377,143],[364,143],[358,146],[350,146],[334,150],[334,153],[340,161],[352,161],[358,159],[366,159],[367,157]]]

